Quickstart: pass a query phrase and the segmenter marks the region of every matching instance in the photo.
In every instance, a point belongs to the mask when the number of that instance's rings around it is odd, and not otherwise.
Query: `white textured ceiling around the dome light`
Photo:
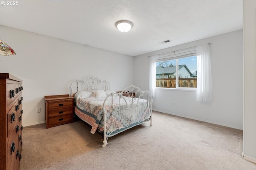
[[[1,25],[130,56],[242,29],[242,15],[241,0],[19,0],[18,6],[0,5]],[[122,33],[115,27],[119,20],[134,26]]]

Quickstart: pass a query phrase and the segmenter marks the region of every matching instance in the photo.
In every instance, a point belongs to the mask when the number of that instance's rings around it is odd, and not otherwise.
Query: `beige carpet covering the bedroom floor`
[[[242,159],[243,132],[153,112],[143,123],[108,139],[82,121],[46,129],[24,127],[20,170],[255,170]]]

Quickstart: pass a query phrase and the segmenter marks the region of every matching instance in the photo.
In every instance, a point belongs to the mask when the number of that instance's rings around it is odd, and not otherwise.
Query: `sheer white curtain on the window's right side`
[[[196,47],[197,56],[197,88],[196,100],[212,102],[212,72],[210,59],[210,45]]]

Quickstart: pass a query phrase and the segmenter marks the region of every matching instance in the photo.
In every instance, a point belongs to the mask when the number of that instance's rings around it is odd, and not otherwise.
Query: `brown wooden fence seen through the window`
[[[179,87],[196,88],[197,78],[179,78]],[[156,78],[156,87],[176,88],[176,78]]]

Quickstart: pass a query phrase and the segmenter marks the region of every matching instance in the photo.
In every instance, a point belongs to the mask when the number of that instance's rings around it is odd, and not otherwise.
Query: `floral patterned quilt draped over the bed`
[[[75,98],[75,113],[92,126],[91,133],[95,133],[97,129],[100,132],[104,130],[102,106],[105,98]],[[131,99],[124,96],[122,98],[110,96],[106,100],[104,107],[107,136],[113,136],[150,119],[150,108],[146,100],[133,98],[133,101],[129,102]]]

